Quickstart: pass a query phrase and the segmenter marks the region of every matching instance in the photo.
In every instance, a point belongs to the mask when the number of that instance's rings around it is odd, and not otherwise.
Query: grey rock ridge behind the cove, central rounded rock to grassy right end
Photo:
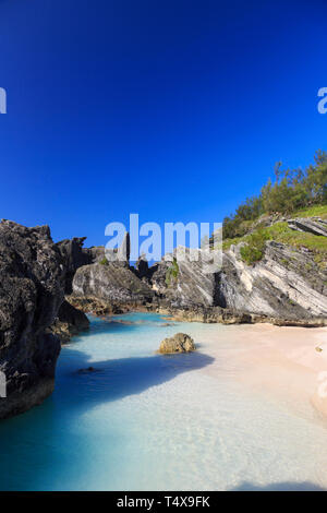
[[[100,300],[100,308],[94,303],[94,310],[102,312],[109,311],[109,306],[146,305],[154,310],[166,309],[179,319],[204,322],[327,322],[326,220],[264,220],[272,231],[255,262],[243,258],[242,248],[249,242],[245,237],[225,249],[218,272],[207,272],[201,250],[194,250],[197,259],[186,250],[181,261],[181,249],[177,249],[150,267],[144,256],[135,269],[129,262],[82,266],[74,275],[73,294],[87,298],[88,306],[90,298]],[[282,235],[282,242],[278,237],[276,240],[276,232]],[[253,237],[255,230],[250,234]],[[299,237],[293,239],[292,234]]]

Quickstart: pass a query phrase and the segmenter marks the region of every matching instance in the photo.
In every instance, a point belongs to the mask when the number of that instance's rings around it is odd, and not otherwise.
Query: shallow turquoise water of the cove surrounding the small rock
[[[234,379],[233,327],[166,323],[93,318],[63,347],[52,396],[0,425],[1,490],[327,488],[326,427]],[[199,350],[156,355],[178,331]]]

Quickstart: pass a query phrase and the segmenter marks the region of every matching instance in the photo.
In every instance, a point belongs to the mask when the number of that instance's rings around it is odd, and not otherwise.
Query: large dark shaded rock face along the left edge
[[[65,265],[48,226],[0,223],[0,418],[51,394],[60,341],[49,329],[63,301]]]

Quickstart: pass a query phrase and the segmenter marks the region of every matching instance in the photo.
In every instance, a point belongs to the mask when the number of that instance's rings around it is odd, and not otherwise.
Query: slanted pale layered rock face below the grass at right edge
[[[327,317],[327,272],[305,248],[266,242],[262,261],[246,265],[240,244],[223,255],[217,303],[281,320]]]

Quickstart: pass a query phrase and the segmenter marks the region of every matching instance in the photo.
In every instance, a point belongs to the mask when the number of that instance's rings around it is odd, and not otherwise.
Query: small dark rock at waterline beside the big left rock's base
[[[89,321],[85,313],[64,300],[58,311],[51,331],[59,336],[62,343],[65,343],[69,342],[72,336],[88,330],[88,327]]]

